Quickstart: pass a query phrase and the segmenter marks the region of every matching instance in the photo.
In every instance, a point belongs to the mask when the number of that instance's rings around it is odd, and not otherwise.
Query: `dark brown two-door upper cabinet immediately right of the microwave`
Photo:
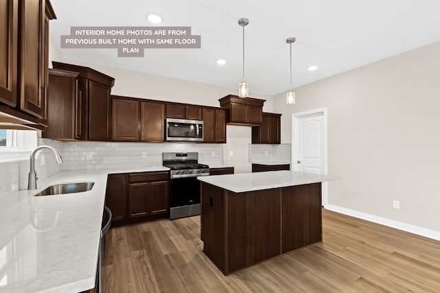
[[[203,108],[203,142],[226,143],[225,110]]]

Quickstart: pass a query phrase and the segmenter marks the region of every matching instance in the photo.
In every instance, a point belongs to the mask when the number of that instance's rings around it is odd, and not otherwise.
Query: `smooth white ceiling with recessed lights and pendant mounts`
[[[63,58],[183,80],[238,88],[243,69],[251,93],[274,95],[440,40],[438,0],[51,0],[58,19],[50,32],[60,47],[71,26],[190,26],[201,49],[145,49],[118,58],[117,49],[61,49]],[[440,55],[440,52],[439,52]],[[440,56],[439,56],[440,57]],[[215,60],[223,58],[219,66]],[[317,65],[316,71],[307,67]]]

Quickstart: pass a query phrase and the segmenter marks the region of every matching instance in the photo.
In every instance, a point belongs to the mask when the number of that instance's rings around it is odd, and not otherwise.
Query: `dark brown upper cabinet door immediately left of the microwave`
[[[141,141],[165,141],[165,104],[154,102],[140,103]]]

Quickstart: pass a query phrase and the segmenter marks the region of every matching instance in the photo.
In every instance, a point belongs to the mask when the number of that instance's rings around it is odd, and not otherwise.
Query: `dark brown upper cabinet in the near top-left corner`
[[[0,2],[0,112],[46,126],[49,0]]]

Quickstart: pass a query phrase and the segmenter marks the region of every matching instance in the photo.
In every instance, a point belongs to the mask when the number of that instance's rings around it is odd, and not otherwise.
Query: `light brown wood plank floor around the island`
[[[199,216],[112,228],[103,292],[440,292],[440,242],[322,211],[322,242],[228,277]]]

